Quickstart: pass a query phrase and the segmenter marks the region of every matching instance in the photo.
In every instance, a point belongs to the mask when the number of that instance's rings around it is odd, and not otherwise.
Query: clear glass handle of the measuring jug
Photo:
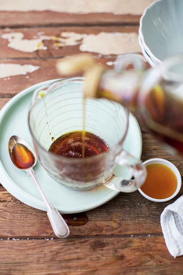
[[[104,186],[125,193],[136,191],[142,186],[146,178],[146,169],[140,160],[123,150],[115,158],[115,162],[120,166],[129,168],[133,173],[134,179],[127,180],[113,174]]]

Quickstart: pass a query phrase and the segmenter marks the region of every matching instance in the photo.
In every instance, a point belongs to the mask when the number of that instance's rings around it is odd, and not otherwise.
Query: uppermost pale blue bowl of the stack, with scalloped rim
[[[183,53],[183,0],[159,0],[145,9],[139,27],[142,45],[156,64]]]

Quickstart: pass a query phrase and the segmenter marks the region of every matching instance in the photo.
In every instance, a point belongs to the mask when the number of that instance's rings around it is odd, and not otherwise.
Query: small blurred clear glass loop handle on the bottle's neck
[[[114,70],[120,73],[122,70],[127,70],[129,65],[133,65],[135,70],[145,70],[145,62],[142,55],[137,53],[126,53],[118,55],[115,61]]]

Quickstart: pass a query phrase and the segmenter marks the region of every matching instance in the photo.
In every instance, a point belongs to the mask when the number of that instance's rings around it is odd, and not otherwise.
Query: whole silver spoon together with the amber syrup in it
[[[55,209],[49,202],[40,183],[38,182],[38,179],[35,176],[33,167],[37,163],[37,157],[34,150],[23,138],[12,136],[8,142],[8,152],[13,165],[18,170],[26,171],[28,176],[30,176],[36,184],[47,206],[47,215],[55,235],[58,238],[68,237],[70,234],[69,227],[67,226],[63,217],[60,215],[59,211]]]

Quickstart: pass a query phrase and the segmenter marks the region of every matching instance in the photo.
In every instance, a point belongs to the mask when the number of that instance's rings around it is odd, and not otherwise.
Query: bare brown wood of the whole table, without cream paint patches
[[[40,31],[45,35],[57,35],[61,31],[138,32],[139,18],[109,13],[0,12],[0,25],[2,33],[21,31],[30,39]],[[6,81],[0,79],[0,108],[30,85],[62,77],[56,71],[56,60],[79,53],[78,45],[55,50],[48,41],[45,45],[49,51],[39,53],[10,49],[5,39],[0,39],[0,43],[1,63],[41,66],[33,74],[27,74],[29,78],[18,75]],[[114,55],[93,53],[93,56],[101,64],[115,60]],[[183,175],[182,156],[170,155],[140,125],[142,161],[165,158]],[[70,236],[59,240],[45,212],[23,204],[0,185],[0,274],[182,274],[183,258],[170,256],[160,227],[164,207],[182,194],[183,188],[173,200],[158,204],[146,200],[138,191],[120,193],[96,209],[65,215]]]

